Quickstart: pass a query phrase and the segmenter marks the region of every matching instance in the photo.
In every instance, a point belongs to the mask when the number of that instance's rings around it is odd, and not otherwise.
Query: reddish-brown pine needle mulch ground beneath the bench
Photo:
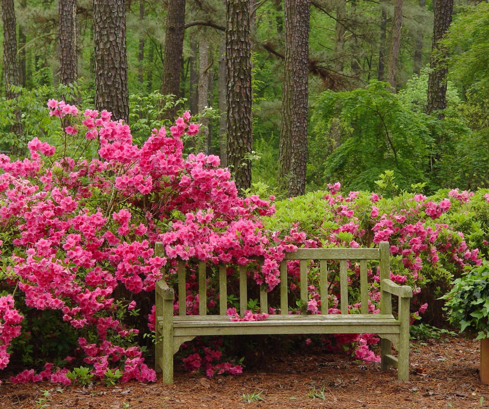
[[[409,382],[396,369],[358,363],[340,354],[306,348],[270,360],[266,371],[205,378],[176,368],[172,386],[119,384],[57,388],[49,383],[0,386],[0,408],[480,408],[489,407],[489,386],[479,381],[479,343],[459,338],[413,342]],[[49,390],[45,401],[43,390]],[[263,401],[253,400],[260,395]],[[484,399],[481,399],[484,398]],[[248,403],[247,400],[251,402]],[[38,402],[36,402],[38,401]]]

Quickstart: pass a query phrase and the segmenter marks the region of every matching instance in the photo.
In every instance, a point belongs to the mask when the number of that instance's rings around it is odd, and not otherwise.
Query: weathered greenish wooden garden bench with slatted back
[[[160,243],[156,253],[163,255]],[[163,372],[163,383],[173,383],[173,355],[183,342],[204,335],[252,334],[360,334],[372,333],[380,337],[381,369],[398,368],[398,378],[409,378],[409,298],[411,287],[400,286],[390,279],[389,243],[381,242],[378,249],[299,249],[288,253],[280,265],[281,315],[270,315],[262,321],[231,321],[226,316],[226,265],[219,265],[220,315],[207,315],[206,265],[199,262],[199,315],[186,315],[185,303],[178,303],[178,316],[173,315],[175,292],[164,279],[156,283],[156,371]],[[317,315],[288,315],[288,283],[286,260],[300,260],[300,297],[308,301],[307,261],[319,260],[321,304],[328,305],[328,260],[339,260],[341,314],[329,314],[328,308]],[[360,264],[360,314],[349,314],[347,260]],[[380,314],[368,313],[367,261],[379,260]],[[184,261],[178,261],[178,293],[186,294]],[[247,305],[246,266],[239,266],[240,313]],[[274,290],[275,291],[275,290]],[[399,296],[398,318],[392,315],[391,295]],[[260,288],[262,311],[268,312],[267,291]],[[391,355],[391,346],[398,358]]]

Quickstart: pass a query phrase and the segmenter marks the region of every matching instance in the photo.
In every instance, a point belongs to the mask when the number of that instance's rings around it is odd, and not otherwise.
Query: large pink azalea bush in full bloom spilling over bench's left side
[[[60,121],[61,146],[34,138],[29,158],[0,156],[0,224],[11,239],[3,245],[8,278],[2,287],[18,288],[16,305],[25,304],[24,314],[59,311],[96,377],[118,368],[122,381],[154,381],[135,344],[138,329],[121,312],[134,310],[135,302],[122,305],[115,288],[129,295],[154,291],[167,264],[155,254],[158,240],[170,258],[247,264],[264,257],[260,277],[273,287],[283,252],[270,245],[261,221],[273,205],[240,198],[218,157],[184,157],[182,136],[199,131],[188,112],[169,130],[153,130],[139,147],[129,126],[107,111],[81,113],[56,100],[48,107]],[[6,365],[22,317],[12,296],[0,300],[0,362]],[[27,371],[12,380],[38,377]]]

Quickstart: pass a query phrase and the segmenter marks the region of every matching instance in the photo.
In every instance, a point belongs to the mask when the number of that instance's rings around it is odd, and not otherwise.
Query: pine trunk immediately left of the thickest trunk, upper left
[[[78,78],[76,50],[76,0],[59,2],[60,83],[72,84]]]

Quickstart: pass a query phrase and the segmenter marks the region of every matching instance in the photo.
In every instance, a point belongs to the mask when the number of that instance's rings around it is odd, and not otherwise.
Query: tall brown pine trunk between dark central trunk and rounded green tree
[[[285,0],[285,63],[279,181],[289,197],[304,194],[307,162],[310,0]]]

